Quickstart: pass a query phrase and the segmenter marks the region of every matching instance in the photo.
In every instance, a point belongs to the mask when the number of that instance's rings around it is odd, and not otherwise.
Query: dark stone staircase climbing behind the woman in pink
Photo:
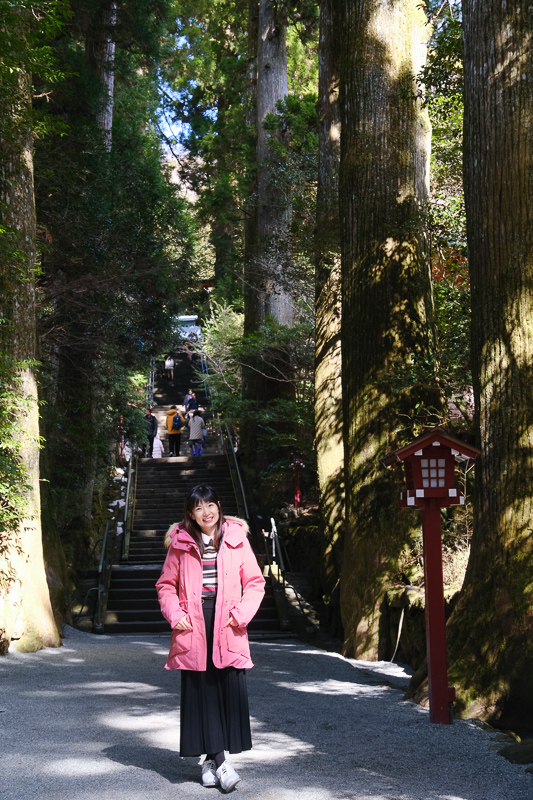
[[[168,437],[164,427],[166,411],[172,404],[180,408],[183,395],[191,385],[194,387],[194,362],[189,362],[187,356],[180,358],[180,353],[176,353],[174,358],[174,382],[166,378],[157,380],[155,397],[160,404],[153,410],[165,452],[168,452]],[[201,394],[200,402],[203,403],[201,410],[205,409],[205,398]],[[208,414],[205,416],[208,418]],[[186,444],[186,434],[182,434],[181,453],[188,452]],[[215,489],[227,516],[237,515],[229,465],[226,456],[219,452],[214,431],[210,431],[201,456],[137,460],[129,554],[127,561],[114,564],[112,568],[104,621],[106,634],[170,631],[159,610],[155,590],[166,555],[163,540],[170,525],[182,519],[188,492],[201,483]],[[251,633],[280,630],[274,592],[270,585],[249,630]]]

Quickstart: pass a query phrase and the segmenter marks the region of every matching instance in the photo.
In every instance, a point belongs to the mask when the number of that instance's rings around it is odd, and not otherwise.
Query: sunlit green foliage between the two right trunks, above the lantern
[[[471,386],[470,282],[463,193],[463,34],[461,3],[427,2],[433,24],[419,80],[432,124],[429,227],[438,329],[438,373],[446,397],[468,424]]]

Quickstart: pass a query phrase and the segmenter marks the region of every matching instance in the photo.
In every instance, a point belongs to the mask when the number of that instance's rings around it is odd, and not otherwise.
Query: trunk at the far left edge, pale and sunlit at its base
[[[0,179],[3,223],[16,231],[18,256],[6,279],[9,294],[1,298],[2,314],[10,332],[3,349],[18,363],[21,391],[26,409],[18,420],[20,457],[27,473],[28,508],[19,531],[18,543],[4,554],[3,569],[11,570],[13,580],[0,596],[0,652],[16,640],[20,651],[58,647],[58,635],[46,582],[41,535],[39,488],[39,408],[34,361],[36,357],[35,319],[35,204],[29,107],[30,78],[20,73],[18,96],[10,97],[11,131],[0,147]]]

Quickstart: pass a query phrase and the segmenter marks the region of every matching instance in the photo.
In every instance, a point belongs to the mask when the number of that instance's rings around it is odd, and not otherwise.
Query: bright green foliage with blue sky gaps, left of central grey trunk
[[[178,3],[160,72],[163,112],[177,130],[170,144],[178,147],[181,180],[197,196],[199,226],[209,232],[208,277],[216,275],[219,299],[241,292],[242,206],[254,149],[246,124],[247,12],[243,0]]]

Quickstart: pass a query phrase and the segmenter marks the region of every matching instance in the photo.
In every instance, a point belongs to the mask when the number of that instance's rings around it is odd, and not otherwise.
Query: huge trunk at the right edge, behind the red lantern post
[[[472,362],[482,454],[471,556],[451,620],[460,706],[533,724],[533,9],[465,0]]]

